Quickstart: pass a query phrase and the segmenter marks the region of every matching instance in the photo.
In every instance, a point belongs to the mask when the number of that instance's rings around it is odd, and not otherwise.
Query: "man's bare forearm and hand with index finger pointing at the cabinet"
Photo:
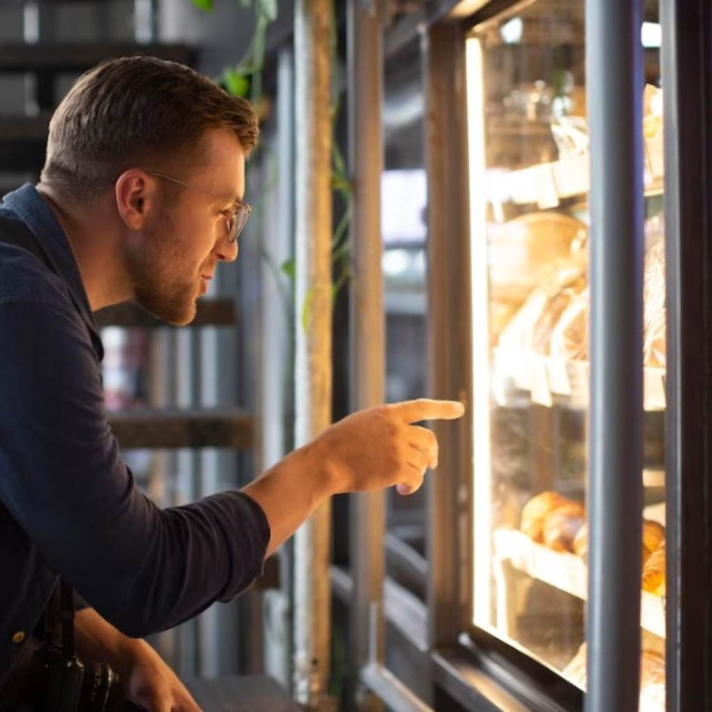
[[[456,401],[419,399],[354,413],[327,428],[244,488],[270,525],[270,554],[326,498],[396,485],[416,491],[427,468],[438,462],[434,434],[415,425],[423,420],[459,418]]]

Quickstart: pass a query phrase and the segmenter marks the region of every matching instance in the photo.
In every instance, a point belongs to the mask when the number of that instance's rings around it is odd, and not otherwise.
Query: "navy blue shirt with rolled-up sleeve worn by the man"
[[[1,686],[57,575],[140,637],[248,587],[269,525],[239,491],[165,510],[142,494],[107,422],[103,348],[61,226],[30,185],[0,214],[49,264],[0,242]]]

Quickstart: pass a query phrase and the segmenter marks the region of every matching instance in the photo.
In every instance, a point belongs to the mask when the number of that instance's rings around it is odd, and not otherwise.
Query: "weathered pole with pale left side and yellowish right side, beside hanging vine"
[[[295,445],[331,422],[330,0],[295,5]],[[316,709],[330,668],[330,503],[295,537],[295,697]]]

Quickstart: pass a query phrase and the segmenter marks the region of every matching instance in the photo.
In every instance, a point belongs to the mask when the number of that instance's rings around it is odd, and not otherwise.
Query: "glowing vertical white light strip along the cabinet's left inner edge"
[[[490,355],[487,293],[487,239],[485,189],[485,136],[482,47],[476,38],[466,44],[467,126],[469,142],[470,240],[472,282],[473,367],[473,614],[476,625],[491,624],[490,565],[491,461],[490,461]]]

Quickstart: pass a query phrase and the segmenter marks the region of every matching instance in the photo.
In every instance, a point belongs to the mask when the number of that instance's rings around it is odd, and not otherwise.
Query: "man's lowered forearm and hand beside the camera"
[[[94,609],[77,613],[75,636],[80,658],[110,664],[127,700],[140,708],[148,712],[201,712],[176,674],[147,642],[120,633]]]

